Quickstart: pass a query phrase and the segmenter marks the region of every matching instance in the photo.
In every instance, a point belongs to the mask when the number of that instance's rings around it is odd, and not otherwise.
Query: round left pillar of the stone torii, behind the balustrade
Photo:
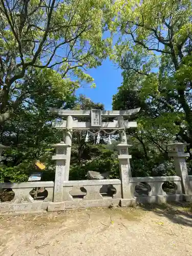
[[[70,168],[70,159],[71,159],[71,144],[72,144],[72,128],[73,128],[73,117],[68,116],[67,125],[66,125],[66,138],[65,143],[70,147],[67,148],[67,159],[66,159],[66,172],[65,172],[65,181],[69,181],[69,168]]]

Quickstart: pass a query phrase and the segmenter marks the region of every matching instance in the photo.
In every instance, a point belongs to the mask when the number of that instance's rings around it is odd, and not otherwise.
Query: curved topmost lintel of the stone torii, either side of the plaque
[[[140,111],[140,108],[133,109],[133,110],[102,110],[101,116],[103,117],[131,117],[132,115],[136,115]],[[91,116],[92,110],[62,110],[62,109],[55,109],[50,108],[51,113],[58,114],[59,116],[74,116],[74,117],[86,117]]]

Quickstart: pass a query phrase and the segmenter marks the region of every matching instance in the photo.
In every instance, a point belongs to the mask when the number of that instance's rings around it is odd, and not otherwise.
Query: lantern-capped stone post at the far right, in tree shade
[[[174,158],[176,175],[181,177],[183,199],[185,201],[192,201],[192,188],[190,185],[187,165],[185,161],[185,157],[189,157],[189,154],[184,153],[184,147],[187,145],[189,144],[180,142],[169,144],[172,150],[170,153],[168,153],[168,156]]]

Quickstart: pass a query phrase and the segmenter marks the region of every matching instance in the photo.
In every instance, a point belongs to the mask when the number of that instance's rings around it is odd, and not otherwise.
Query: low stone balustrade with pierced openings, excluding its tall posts
[[[189,176],[189,180],[192,183],[192,176]],[[163,190],[162,185],[164,182],[173,182],[175,184],[174,194],[166,193]],[[138,184],[143,183],[147,187],[147,194],[139,195],[136,187]],[[135,199],[135,203],[162,203],[183,200],[181,177],[179,176],[130,177],[129,186],[131,197]],[[47,197],[43,200],[34,200],[30,196],[30,191],[35,187],[44,187],[48,193]],[[103,187],[105,193],[102,193]],[[122,197],[121,180],[119,179],[64,181],[62,202],[53,202],[54,182],[38,181],[0,184],[0,189],[10,188],[15,194],[14,198],[10,202],[1,202],[0,211],[32,209],[48,209],[53,211],[92,206],[109,206],[110,204],[118,205]],[[77,189],[79,189],[79,193]],[[76,195],[73,195],[73,190],[76,191]]]

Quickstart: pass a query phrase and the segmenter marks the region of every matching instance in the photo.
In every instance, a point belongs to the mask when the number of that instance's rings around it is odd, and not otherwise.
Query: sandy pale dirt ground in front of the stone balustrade
[[[189,205],[0,216],[0,255],[192,256]]]

